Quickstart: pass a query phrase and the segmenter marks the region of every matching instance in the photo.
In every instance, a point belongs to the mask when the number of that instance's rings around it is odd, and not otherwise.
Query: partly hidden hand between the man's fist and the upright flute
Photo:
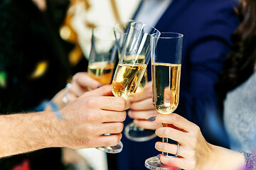
[[[161,123],[154,123],[148,119],[157,115],[158,112],[152,104],[152,84],[147,83],[143,91],[134,94],[130,99],[131,106],[128,112],[130,118],[134,119],[134,123],[141,128],[155,130],[162,126]]]

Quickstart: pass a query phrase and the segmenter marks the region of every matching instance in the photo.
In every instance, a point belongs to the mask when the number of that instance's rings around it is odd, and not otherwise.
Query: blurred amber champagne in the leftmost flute
[[[92,62],[88,66],[88,75],[100,82],[100,84],[110,84],[112,80],[114,63]]]

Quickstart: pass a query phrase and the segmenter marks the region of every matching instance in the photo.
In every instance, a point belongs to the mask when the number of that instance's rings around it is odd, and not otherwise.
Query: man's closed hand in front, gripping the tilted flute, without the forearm
[[[128,101],[112,96],[111,85],[83,94],[60,110],[65,121],[60,129],[62,142],[73,149],[117,145],[128,108]]]

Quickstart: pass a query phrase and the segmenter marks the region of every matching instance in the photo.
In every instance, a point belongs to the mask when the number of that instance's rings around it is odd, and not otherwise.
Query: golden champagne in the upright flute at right
[[[178,106],[181,64],[153,63],[153,105],[156,111],[169,114]]]

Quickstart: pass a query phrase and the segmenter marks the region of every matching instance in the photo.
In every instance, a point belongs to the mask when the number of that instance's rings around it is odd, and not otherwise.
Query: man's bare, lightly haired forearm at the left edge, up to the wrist
[[[58,147],[59,122],[51,112],[0,115],[0,157]]]

